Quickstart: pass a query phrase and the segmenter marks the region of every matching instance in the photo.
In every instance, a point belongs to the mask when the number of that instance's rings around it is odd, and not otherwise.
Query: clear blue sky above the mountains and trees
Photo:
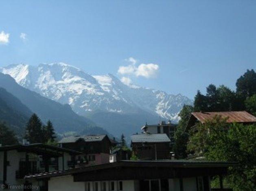
[[[0,67],[64,62],[189,98],[256,69],[255,0],[0,4]]]

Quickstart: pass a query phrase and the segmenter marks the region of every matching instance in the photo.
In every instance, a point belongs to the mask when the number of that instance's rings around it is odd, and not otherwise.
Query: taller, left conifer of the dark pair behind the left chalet
[[[43,135],[42,122],[34,113],[26,125],[25,139],[30,141],[30,143],[42,143],[44,141]]]

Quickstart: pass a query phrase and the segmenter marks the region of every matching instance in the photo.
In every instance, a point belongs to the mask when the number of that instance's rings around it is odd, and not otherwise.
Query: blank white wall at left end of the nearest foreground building
[[[85,182],[74,182],[72,175],[50,178],[48,181],[48,190],[85,191]]]

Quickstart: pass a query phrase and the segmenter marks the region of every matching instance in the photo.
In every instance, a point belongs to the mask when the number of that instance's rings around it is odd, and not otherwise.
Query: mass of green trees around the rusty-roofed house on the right
[[[208,161],[237,162],[224,184],[234,191],[256,187],[256,124],[228,124],[220,116],[187,129],[192,112],[242,111],[256,116],[256,73],[247,70],[236,80],[236,91],[210,84],[206,95],[197,91],[193,106],[184,105],[175,132],[175,157],[204,158]],[[218,183],[215,178],[212,186]]]

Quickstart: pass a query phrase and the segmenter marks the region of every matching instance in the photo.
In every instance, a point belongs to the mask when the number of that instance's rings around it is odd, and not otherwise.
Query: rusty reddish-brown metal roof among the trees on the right
[[[201,123],[212,119],[216,115],[226,118],[228,123],[255,123],[256,117],[249,114],[247,111],[221,111],[221,112],[193,112],[191,113]]]

